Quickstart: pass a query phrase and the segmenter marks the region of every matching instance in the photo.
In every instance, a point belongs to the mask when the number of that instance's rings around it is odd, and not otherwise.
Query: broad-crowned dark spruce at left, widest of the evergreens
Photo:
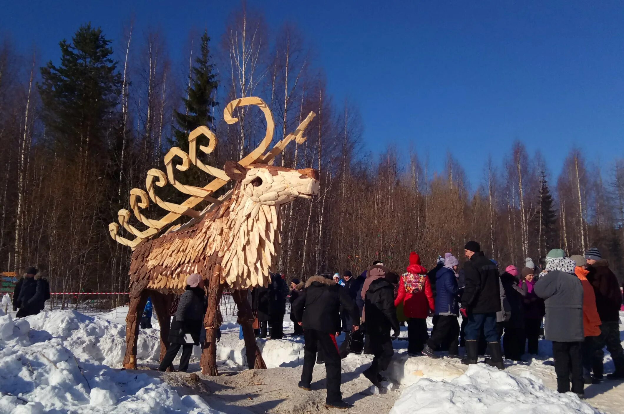
[[[57,151],[69,158],[111,146],[122,79],[109,44],[102,29],[85,24],[71,43],[59,43],[61,64],[41,68],[44,122]]]

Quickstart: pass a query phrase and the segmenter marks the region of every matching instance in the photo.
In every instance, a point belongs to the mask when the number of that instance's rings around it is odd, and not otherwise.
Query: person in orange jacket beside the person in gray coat
[[[583,346],[581,355],[583,359],[583,382],[586,384],[599,383],[601,380],[598,378],[592,378],[593,365],[600,365],[602,367],[602,356],[597,359],[597,344],[600,339],[600,315],[596,308],[596,294],[593,292],[592,284],[587,280],[587,274],[589,271],[586,269],[587,261],[580,254],[574,254],[570,256],[577,267],[574,268],[574,272],[583,285],[583,331],[585,339],[583,340]],[[599,372],[602,372],[598,368]]]

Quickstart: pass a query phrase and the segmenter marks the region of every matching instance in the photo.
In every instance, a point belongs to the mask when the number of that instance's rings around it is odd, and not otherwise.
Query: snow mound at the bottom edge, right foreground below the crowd
[[[485,365],[470,365],[453,380],[421,378],[407,387],[390,414],[500,413],[594,414],[600,413],[573,393],[560,394],[529,371],[520,376]]]

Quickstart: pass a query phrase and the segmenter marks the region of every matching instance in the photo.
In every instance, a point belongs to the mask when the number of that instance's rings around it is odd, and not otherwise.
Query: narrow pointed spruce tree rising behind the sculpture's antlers
[[[172,145],[188,151],[188,133],[202,125],[212,123],[212,108],[217,105],[215,94],[217,92],[216,75],[213,74],[213,65],[210,63],[210,49],[208,49],[208,31],[202,35],[200,54],[195,59],[195,65],[191,70],[190,87],[188,87],[188,99],[184,98],[185,112],[175,111],[178,128],[173,130]]]

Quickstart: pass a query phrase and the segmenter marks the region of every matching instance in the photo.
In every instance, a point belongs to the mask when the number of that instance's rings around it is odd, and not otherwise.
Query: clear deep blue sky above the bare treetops
[[[293,22],[314,47],[334,102],[358,105],[366,150],[413,148],[472,181],[512,141],[542,150],[553,175],[572,146],[607,170],[624,156],[622,1],[248,1],[271,29]],[[84,22],[120,36],[160,27],[172,59],[188,28],[218,40],[233,1],[2,2],[0,33],[42,61]]]

